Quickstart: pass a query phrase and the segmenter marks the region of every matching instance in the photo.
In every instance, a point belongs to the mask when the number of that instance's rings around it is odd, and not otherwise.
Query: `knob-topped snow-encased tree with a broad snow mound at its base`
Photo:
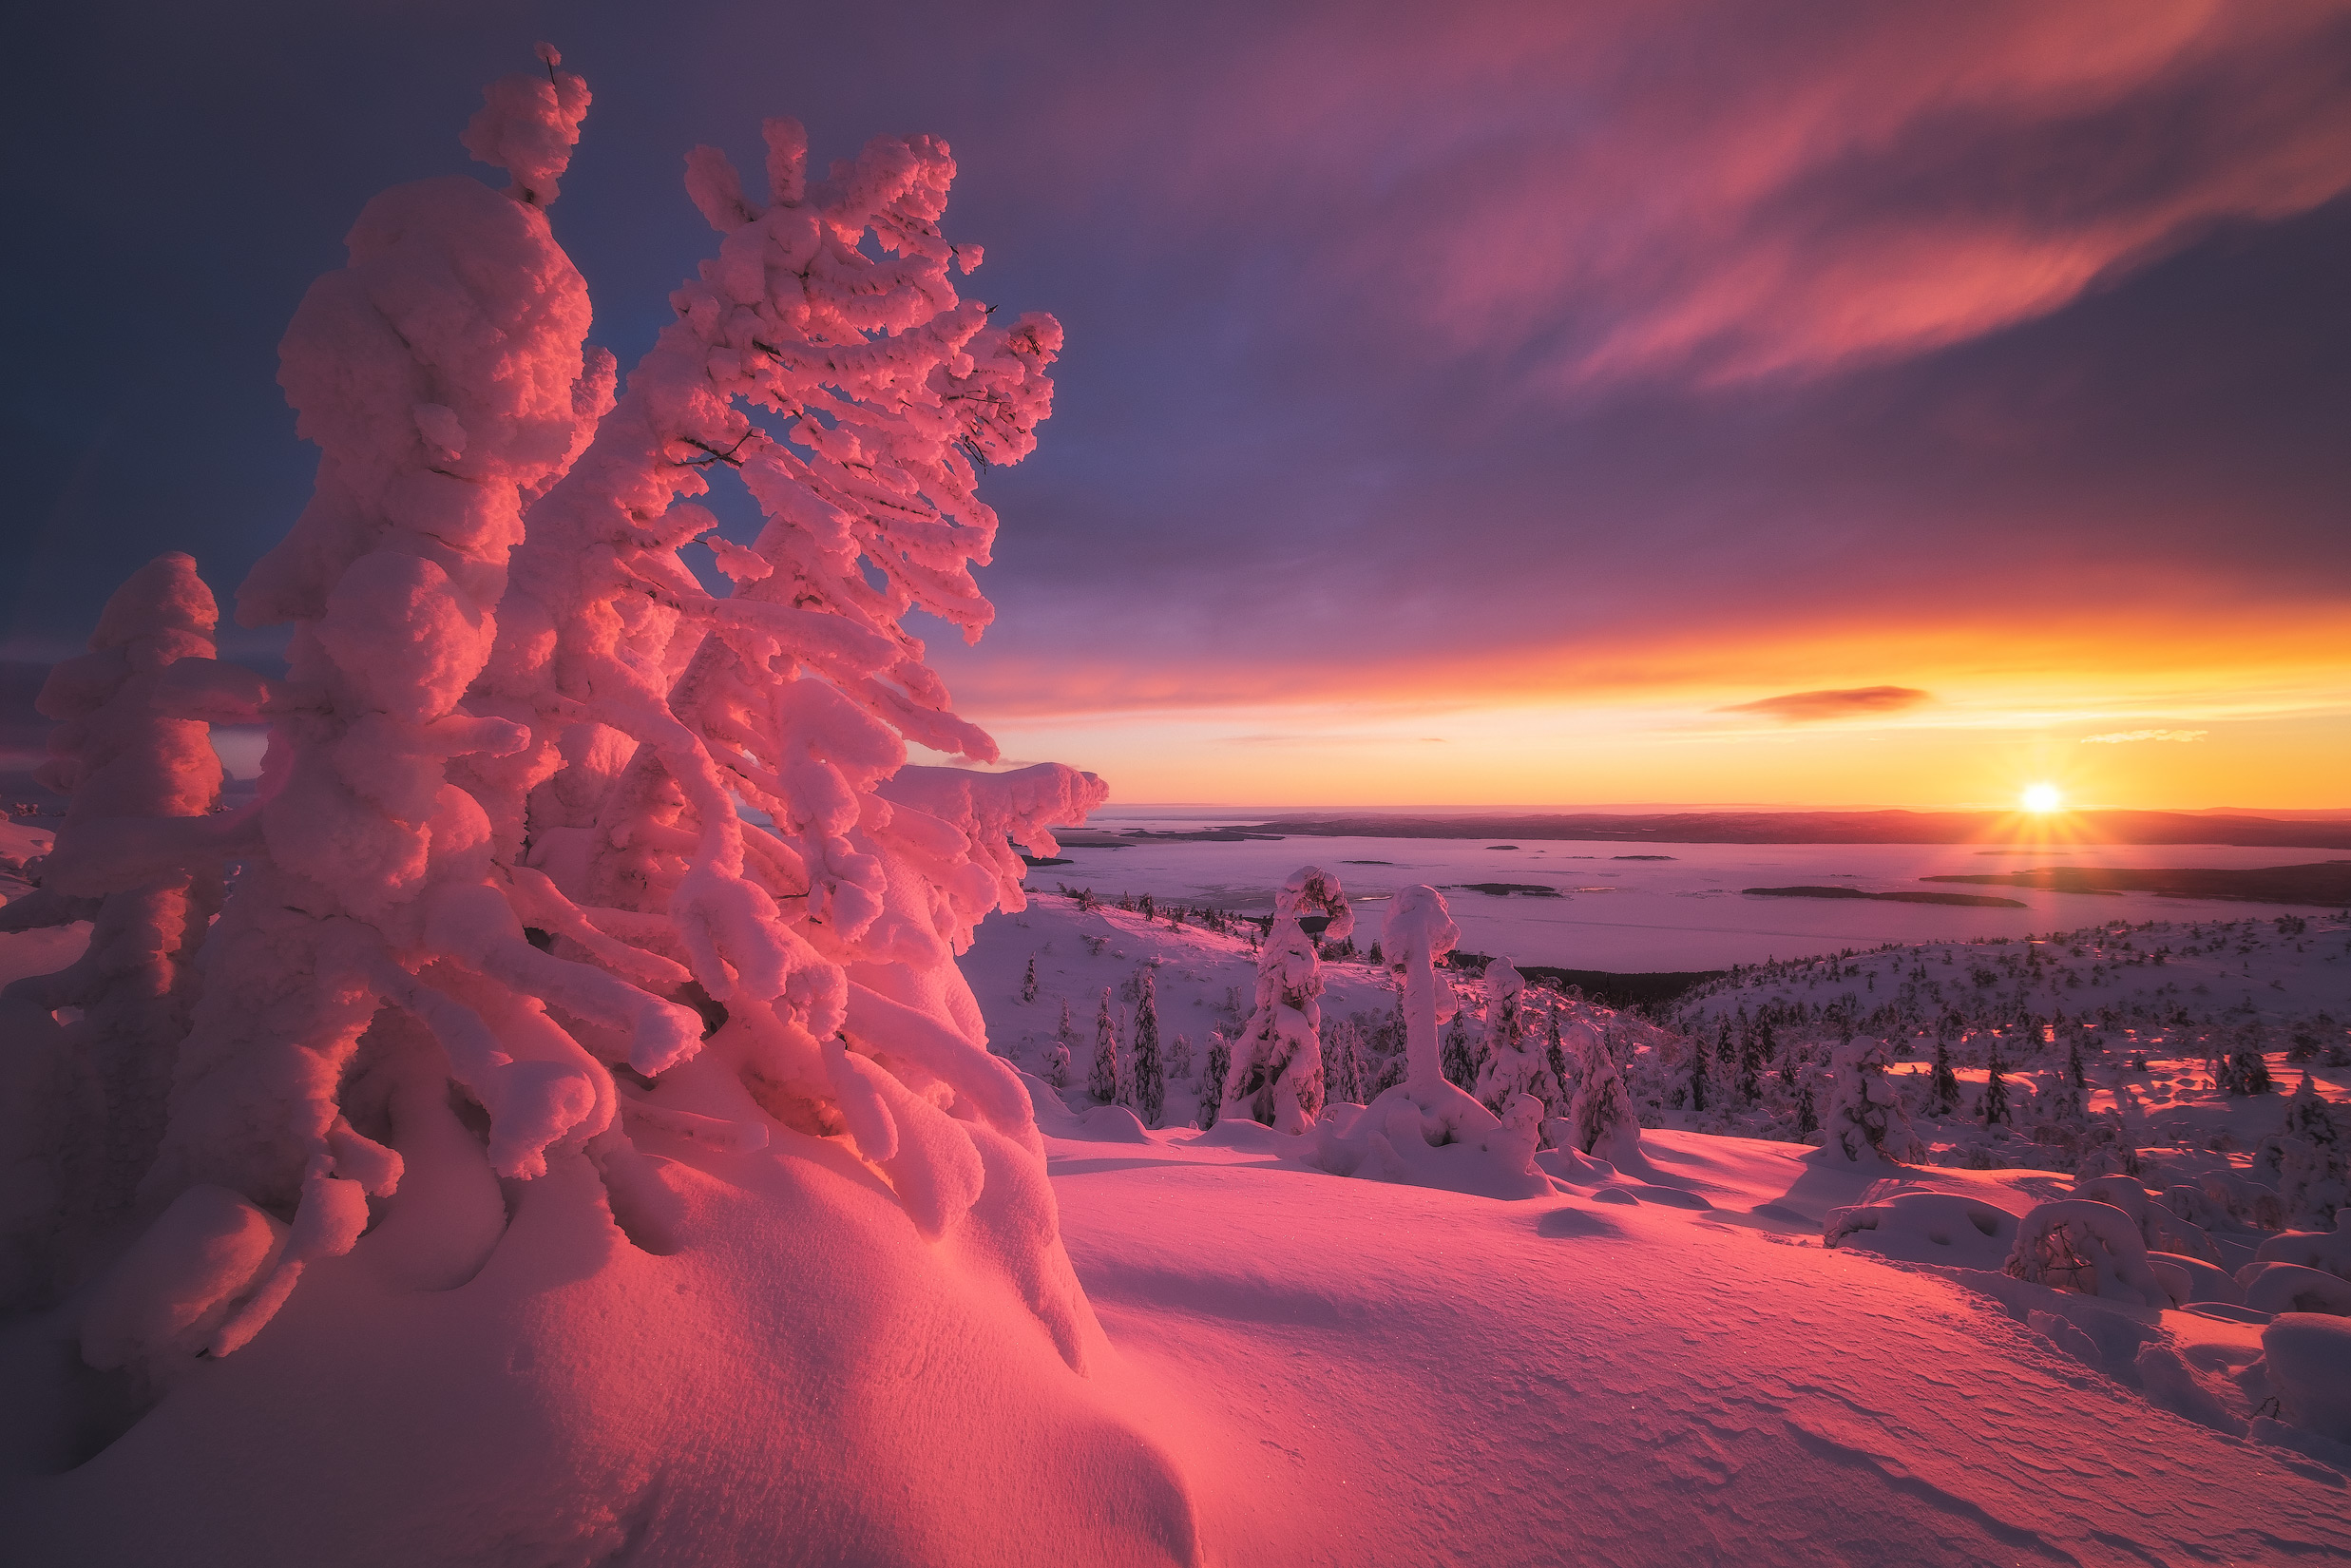
[[[1389,964],[1404,971],[1406,1074],[1359,1114],[1314,1124],[1314,1164],[1333,1175],[1448,1187],[1519,1199],[1552,1192],[1535,1168],[1542,1103],[1514,1098],[1502,1117],[1446,1081],[1436,1025],[1453,1016],[1453,990],[1436,961],[1460,943],[1444,893],[1408,886],[1380,931]]]

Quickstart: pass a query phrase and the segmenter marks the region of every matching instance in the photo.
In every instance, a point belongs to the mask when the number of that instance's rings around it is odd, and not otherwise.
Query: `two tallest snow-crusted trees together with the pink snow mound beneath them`
[[[284,336],[317,491],[237,607],[289,672],[181,658],[155,698],[270,724],[259,802],[103,856],[101,891],[240,860],[80,1324],[172,1401],[12,1528],[110,1561],[1190,1559],[1180,1479],[1079,1375],[1030,1100],[952,961],[1023,905],[1013,844],[1105,790],[905,766],[994,757],[903,618],[987,623],[976,484],[1034,444],[1060,331],[959,299],[943,143],[818,179],[771,120],[762,197],[689,158],[717,254],[616,397],[545,212],[588,92],[543,63],[465,134],[508,188],[376,197]],[[766,520],[712,541],[726,597],[677,555],[715,465]],[[905,1356],[952,1373],[844,1375]]]

